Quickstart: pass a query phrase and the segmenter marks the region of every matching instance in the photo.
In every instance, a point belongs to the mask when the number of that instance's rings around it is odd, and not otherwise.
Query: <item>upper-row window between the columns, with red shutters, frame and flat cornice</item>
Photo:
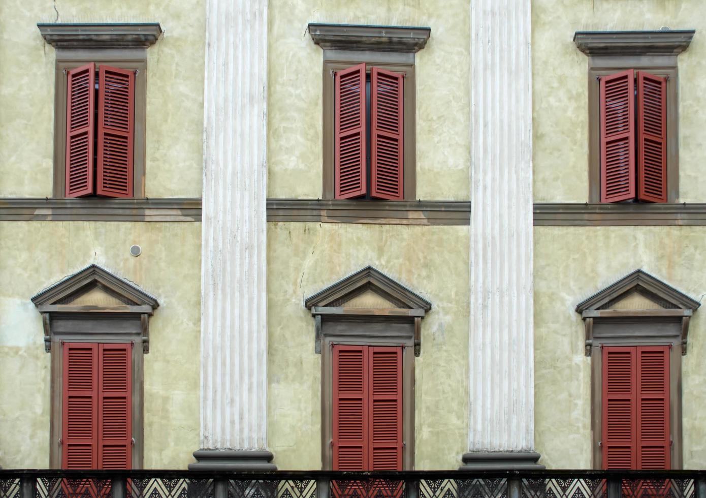
[[[325,199],[416,199],[414,54],[429,28],[309,24],[323,49]]]

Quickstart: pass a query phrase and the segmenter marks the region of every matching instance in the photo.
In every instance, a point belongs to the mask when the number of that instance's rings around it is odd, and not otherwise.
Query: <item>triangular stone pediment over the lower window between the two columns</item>
[[[353,273],[309,297],[304,305],[376,309],[424,309],[431,303],[372,266]]]

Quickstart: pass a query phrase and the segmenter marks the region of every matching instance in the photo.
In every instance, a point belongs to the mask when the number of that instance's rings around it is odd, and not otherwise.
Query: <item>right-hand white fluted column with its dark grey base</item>
[[[469,432],[463,468],[532,467],[530,0],[472,0]]]

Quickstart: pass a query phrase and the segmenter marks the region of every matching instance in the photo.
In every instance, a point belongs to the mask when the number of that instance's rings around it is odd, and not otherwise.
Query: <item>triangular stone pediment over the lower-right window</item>
[[[635,270],[576,306],[587,310],[697,309],[700,303],[650,273]]]

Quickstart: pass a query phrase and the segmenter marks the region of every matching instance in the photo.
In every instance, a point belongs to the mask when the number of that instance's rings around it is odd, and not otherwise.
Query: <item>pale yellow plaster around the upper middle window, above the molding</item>
[[[469,198],[469,7],[465,0],[270,1],[268,197],[319,198],[322,69],[309,23],[430,26],[417,52],[417,197]]]

